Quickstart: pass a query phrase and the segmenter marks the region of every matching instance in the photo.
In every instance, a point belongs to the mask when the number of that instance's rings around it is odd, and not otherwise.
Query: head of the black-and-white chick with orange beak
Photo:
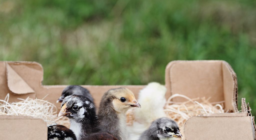
[[[80,121],[95,116],[95,107],[91,100],[81,95],[70,95],[64,98],[58,116]]]

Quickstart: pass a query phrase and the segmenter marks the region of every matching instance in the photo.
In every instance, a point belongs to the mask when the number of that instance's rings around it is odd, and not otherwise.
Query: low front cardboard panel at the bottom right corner
[[[251,116],[196,116],[184,125],[187,140],[253,140],[254,128]]]

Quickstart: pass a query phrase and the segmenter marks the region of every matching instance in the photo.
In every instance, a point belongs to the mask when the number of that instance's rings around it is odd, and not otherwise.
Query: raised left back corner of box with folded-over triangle
[[[9,102],[20,101],[17,98],[36,98],[35,92],[41,91],[43,77],[42,66],[37,62],[0,61],[0,99],[9,93]]]

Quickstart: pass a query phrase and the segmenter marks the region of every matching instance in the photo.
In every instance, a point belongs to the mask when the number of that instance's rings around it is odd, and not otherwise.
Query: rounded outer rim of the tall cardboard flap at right
[[[231,76],[233,77],[233,82],[234,82],[234,87],[233,87],[233,95],[232,95],[232,106],[233,106],[233,111],[238,112],[237,109],[237,104],[238,104],[238,83],[237,83],[237,76],[236,73],[233,71],[232,67],[227,63],[226,61],[223,60],[176,60],[176,61],[171,61],[167,64],[165,68],[165,87],[167,89],[165,97],[168,99],[170,96],[172,96],[172,81],[170,78],[170,69],[172,66],[174,66],[176,63],[180,62],[222,62],[225,66],[227,66]]]

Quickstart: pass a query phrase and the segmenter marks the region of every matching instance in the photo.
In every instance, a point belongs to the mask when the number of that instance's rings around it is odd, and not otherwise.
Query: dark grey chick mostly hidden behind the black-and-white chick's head
[[[63,99],[69,95],[82,95],[84,97],[87,97],[88,99],[90,99],[93,102],[93,98],[92,98],[92,95],[90,94],[89,90],[86,88],[83,88],[81,86],[78,86],[78,85],[67,86],[62,91],[60,98],[56,102],[57,103],[62,102]]]

